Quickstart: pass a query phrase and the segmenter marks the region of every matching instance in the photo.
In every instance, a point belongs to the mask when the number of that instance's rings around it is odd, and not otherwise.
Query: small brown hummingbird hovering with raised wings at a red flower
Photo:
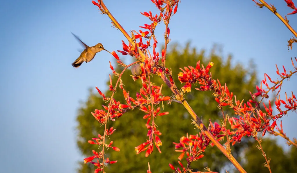
[[[72,32],[71,32],[72,33]],[[78,68],[83,62],[90,62],[94,59],[96,53],[100,52],[101,50],[105,50],[107,52],[109,52],[108,50],[104,49],[103,45],[101,43],[98,43],[95,46],[91,46],[89,47],[88,45],[86,45],[84,42],[82,42],[78,36],[76,36],[75,34],[72,33],[72,35],[81,43],[81,45],[83,47],[85,47],[85,49],[83,50],[83,52],[79,55],[79,57],[72,63],[72,66],[74,68]],[[110,53],[110,52],[109,52]],[[111,53],[110,53],[111,54]]]

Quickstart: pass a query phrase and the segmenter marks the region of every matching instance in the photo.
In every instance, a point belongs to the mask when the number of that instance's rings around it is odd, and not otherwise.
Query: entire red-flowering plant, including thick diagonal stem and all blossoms
[[[285,79],[289,79],[294,73],[297,73],[297,68],[294,66],[293,60],[292,64],[295,71],[290,71],[287,73],[285,67],[283,67],[284,72],[280,73],[279,69],[277,68],[277,74],[282,78],[281,80],[271,80],[271,78],[265,74],[264,80],[261,82],[260,87],[256,86],[257,92],[250,93],[251,99],[244,102],[244,100],[237,100],[236,96],[233,95],[232,92],[229,91],[227,84],[222,85],[220,81],[212,79],[210,69],[214,64],[209,62],[206,68],[201,65],[200,61],[197,62],[196,67],[188,66],[181,69],[181,72],[178,74],[178,80],[181,83],[185,83],[185,85],[181,88],[182,91],[178,90],[173,80],[172,72],[166,68],[165,61],[166,61],[166,51],[167,51],[167,44],[170,42],[170,28],[168,27],[170,18],[176,14],[179,0],[151,0],[157,9],[159,10],[158,14],[153,14],[151,11],[149,12],[142,12],[141,14],[147,17],[150,22],[148,24],[144,24],[140,26],[142,28],[139,31],[131,31],[131,35],[128,35],[127,32],[121,27],[121,25],[113,18],[110,14],[108,9],[105,7],[103,1],[98,0],[98,3],[92,1],[94,5],[96,5],[99,10],[110,17],[112,20],[113,25],[118,28],[124,36],[126,36],[128,43],[122,40],[122,50],[118,50],[119,53],[122,55],[130,55],[136,59],[136,62],[132,64],[126,65],[124,64],[119,56],[113,51],[111,54],[116,58],[116,62],[120,65],[125,67],[121,73],[118,73],[114,70],[111,62],[110,62],[110,69],[114,76],[118,77],[116,85],[113,85],[111,75],[110,77],[110,85],[109,91],[112,92],[111,97],[106,97],[97,87],[97,91],[102,96],[102,99],[106,102],[109,102],[108,106],[102,105],[103,109],[95,109],[94,112],[91,114],[94,118],[101,124],[105,124],[105,131],[103,135],[98,135],[98,138],[92,138],[88,142],[92,145],[99,145],[102,146],[102,150],[96,152],[93,150],[93,156],[85,158],[85,163],[91,163],[97,166],[95,173],[97,172],[104,172],[104,166],[106,164],[114,164],[117,161],[110,161],[109,158],[104,159],[104,148],[112,148],[115,151],[119,151],[120,149],[117,147],[112,146],[113,141],[109,144],[105,143],[105,138],[115,131],[113,127],[107,129],[106,125],[108,120],[115,121],[116,118],[119,118],[124,115],[129,110],[132,109],[139,109],[144,113],[143,119],[146,119],[146,128],[148,129],[146,142],[143,142],[139,146],[135,147],[135,151],[137,154],[146,151],[145,156],[148,157],[154,150],[154,146],[156,146],[159,153],[161,153],[160,146],[162,145],[162,141],[160,139],[160,135],[162,133],[157,129],[157,125],[154,122],[154,119],[162,116],[168,115],[169,112],[162,112],[159,104],[163,101],[176,101],[178,103],[183,104],[187,110],[190,112],[192,117],[195,119],[196,126],[201,130],[199,134],[196,135],[188,135],[186,137],[181,137],[179,143],[174,143],[176,145],[176,151],[181,152],[181,155],[178,159],[187,155],[187,166],[184,167],[180,161],[178,163],[181,166],[180,168],[174,168],[173,165],[169,164],[170,168],[175,170],[175,172],[189,172],[190,171],[190,164],[193,161],[197,161],[203,158],[203,152],[205,152],[206,147],[208,145],[217,147],[220,145],[220,141],[224,140],[226,137],[227,142],[226,149],[220,149],[223,153],[225,150],[230,152],[230,144],[235,145],[236,142],[241,142],[242,137],[254,137],[260,144],[260,140],[258,139],[257,133],[262,132],[264,136],[266,132],[274,135],[279,135],[285,138],[288,143],[291,145],[296,145],[297,141],[291,141],[283,132],[282,123],[280,123],[280,128],[277,126],[277,120],[282,118],[282,116],[286,115],[288,111],[296,110],[297,108],[297,100],[295,95],[292,93],[291,97],[286,95],[286,99],[281,99],[279,96],[280,89],[282,87],[282,81]],[[255,1],[255,0],[253,0]],[[297,9],[294,3],[291,0],[285,0],[287,5],[291,7],[293,10],[290,14],[297,13]],[[255,1],[256,2],[256,1]],[[260,7],[266,6],[267,4],[264,3],[257,3]],[[268,6],[267,6],[268,8]],[[274,7],[270,7],[270,10],[274,10]],[[163,21],[165,24],[165,47],[162,49],[161,55],[159,52],[156,51],[157,48],[157,38],[154,34],[156,27],[159,23]],[[152,50],[149,50],[152,48]],[[297,61],[297,59],[295,58]],[[139,89],[139,92],[136,94],[136,97],[131,97],[129,91],[124,89],[123,81],[121,80],[122,74],[125,72],[127,68],[132,66],[132,79],[140,80],[142,83],[142,87]],[[162,95],[162,85],[156,86],[154,83],[151,82],[151,76],[158,75],[161,79],[165,82],[166,85],[173,91],[172,99],[169,96]],[[168,79],[168,78],[169,79]],[[268,79],[268,80],[267,80]],[[270,83],[273,86],[270,86]],[[190,92],[191,87],[193,84],[199,84],[199,88],[195,88],[198,91],[212,91],[214,100],[218,103],[218,108],[222,111],[223,121],[222,125],[220,126],[217,122],[212,123],[210,120],[208,128],[204,126],[202,121],[197,118],[195,113],[191,112],[191,108],[187,105],[187,101],[183,98],[183,91]],[[262,88],[262,84],[266,86],[266,88]],[[124,103],[117,101],[113,98],[116,89],[120,88],[123,96],[124,96]],[[279,112],[278,114],[273,114],[273,109],[271,106],[271,101],[268,101],[268,106],[263,103],[263,110],[260,109],[260,103],[264,98],[269,98],[268,92],[269,91],[277,91],[277,97],[275,101],[276,109]],[[260,99],[260,101],[259,101]],[[234,100],[234,102],[233,102]],[[234,115],[236,117],[229,117],[224,114],[224,108],[230,107],[234,111]],[[284,108],[285,109],[284,109]],[[199,120],[198,120],[199,119]],[[199,125],[197,122],[201,122]],[[230,128],[227,128],[227,124],[229,123]],[[275,131],[274,128],[278,131]],[[262,149],[261,149],[262,150]],[[263,150],[262,150],[263,151]],[[263,151],[264,153],[264,151]],[[225,154],[225,153],[224,153]],[[231,157],[231,154],[225,154],[227,157]],[[264,155],[266,158],[266,156]],[[94,159],[97,159],[97,162],[93,162]],[[230,161],[234,165],[239,165],[237,161],[230,159]],[[267,161],[267,158],[266,158]],[[268,163],[269,167],[269,163]],[[238,170],[243,172],[243,168],[236,167]],[[148,173],[151,173],[150,166]]]

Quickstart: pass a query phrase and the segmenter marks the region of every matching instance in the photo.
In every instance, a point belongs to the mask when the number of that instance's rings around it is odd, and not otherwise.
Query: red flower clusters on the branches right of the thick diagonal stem
[[[297,61],[297,58],[295,58]],[[189,68],[185,67],[178,74],[178,79],[181,81],[181,83],[186,83],[184,85],[183,90],[184,91],[191,91],[192,84],[199,83],[200,88],[196,88],[196,90],[199,91],[208,91],[212,90],[214,99],[218,103],[219,109],[223,110],[223,107],[230,107],[234,110],[234,114],[238,115],[239,117],[225,117],[224,120],[228,120],[230,124],[230,129],[224,128],[226,126],[225,122],[223,122],[224,127],[219,126],[217,123],[210,123],[208,127],[208,131],[211,132],[211,134],[218,140],[221,141],[222,137],[228,135],[230,136],[230,142],[232,145],[235,145],[236,142],[241,142],[242,137],[254,137],[257,141],[257,133],[262,132],[262,136],[266,134],[266,131],[268,131],[270,134],[279,135],[283,138],[285,138],[288,141],[289,145],[295,145],[297,147],[297,141],[291,141],[283,132],[282,125],[281,128],[277,127],[277,120],[281,118],[282,116],[286,115],[288,111],[296,110],[297,106],[297,100],[296,96],[292,93],[292,96],[288,98],[287,94],[286,101],[280,99],[279,92],[282,87],[282,81],[285,79],[289,79],[293,74],[297,73],[297,67],[294,66],[293,59],[292,59],[292,65],[295,69],[295,71],[290,71],[288,74],[285,67],[283,66],[283,72],[279,72],[279,69],[277,67],[276,73],[279,75],[279,77],[282,78],[282,80],[271,80],[271,78],[268,76],[268,74],[264,74],[264,80],[261,82],[260,87],[256,86],[257,92],[256,93],[250,93],[252,99],[250,99],[247,102],[244,102],[244,100],[239,101],[236,100],[236,96],[233,93],[229,91],[227,85],[221,85],[219,80],[212,80],[211,74],[209,73],[209,69],[213,64],[210,62],[206,69],[200,68],[200,62],[197,62],[196,68],[189,66]],[[268,79],[268,80],[267,80]],[[273,84],[273,86],[269,86],[269,82]],[[266,86],[267,89],[262,88],[262,83]],[[276,115],[273,115],[273,109],[271,106],[271,101],[268,101],[268,106],[266,106],[265,103],[263,103],[264,109],[259,109],[260,102],[264,98],[268,98],[268,92],[274,91],[277,92],[278,98],[276,98],[275,105],[276,109],[279,112]],[[262,98],[260,101],[256,101],[257,98]],[[233,102],[233,99],[235,101]],[[282,105],[281,105],[282,104]],[[285,107],[286,110],[282,110],[281,106]],[[265,112],[263,112],[265,111]],[[279,132],[274,131],[274,128],[277,127],[277,130]],[[223,134],[221,134],[223,133]],[[203,134],[200,134],[200,136],[196,135],[197,137],[204,138],[205,145],[207,146],[209,143],[207,143],[207,137],[203,136]],[[193,135],[190,135],[190,138],[181,137],[180,143],[174,143],[176,147],[183,147],[183,150],[176,150],[178,152],[183,152],[178,159],[181,160],[181,158],[184,156],[184,152],[189,150],[191,147],[186,147],[187,145],[193,146],[193,141],[189,142],[189,140],[193,138]],[[203,140],[202,140],[203,141]],[[213,143],[211,143],[213,146]],[[227,144],[229,145],[229,144]],[[203,148],[204,150],[205,148]],[[197,154],[197,153],[195,153]],[[191,156],[187,154],[188,157]],[[191,163],[191,161],[195,161],[193,159],[187,158],[188,165]],[[182,169],[174,168],[172,165],[170,167],[175,170],[176,172],[181,172]],[[189,167],[185,168],[182,166],[184,170],[189,169]]]

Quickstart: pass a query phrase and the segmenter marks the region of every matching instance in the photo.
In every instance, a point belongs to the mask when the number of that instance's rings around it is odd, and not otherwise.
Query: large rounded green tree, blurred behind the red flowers
[[[178,81],[179,68],[184,68],[184,66],[196,66],[197,61],[201,61],[200,64],[206,66],[208,62],[212,61],[214,66],[211,68],[211,73],[213,79],[219,79],[222,85],[227,83],[228,88],[232,91],[238,99],[250,99],[250,94],[248,91],[255,91],[255,85],[257,84],[255,65],[251,63],[248,66],[243,66],[239,63],[232,62],[232,56],[228,55],[227,58],[222,56],[220,47],[214,46],[209,55],[205,54],[205,50],[200,50],[199,52],[190,47],[188,43],[184,48],[178,44],[173,44],[168,51],[166,58],[166,66],[173,70],[173,77],[181,88],[183,85]],[[115,63],[114,63],[115,64]],[[116,65],[114,65],[116,67]],[[123,68],[117,67],[116,71],[121,72]],[[130,96],[136,97],[136,92],[139,92],[141,88],[141,81],[137,80],[133,82],[130,70],[127,70],[122,76],[124,82],[124,88],[126,91],[130,91]],[[116,82],[117,78],[113,77],[113,82]],[[162,82],[158,76],[151,78],[152,82],[156,85],[163,84],[162,93],[165,96],[171,96],[170,89]],[[109,79],[108,79],[109,81]],[[106,85],[108,88],[109,82]],[[95,86],[94,86],[95,87]],[[98,86],[98,88],[103,88]],[[120,89],[117,89],[115,94],[115,99],[124,102],[123,94]],[[106,91],[105,95],[110,96],[110,92]],[[214,100],[211,92],[200,92],[195,90],[195,86],[192,87],[192,92],[185,95],[187,101],[197,113],[198,116],[203,118],[203,122],[206,126],[209,124],[209,119],[212,122],[217,121],[221,124],[222,115],[217,108],[217,102]],[[97,91],[93,93],[92,90],[89,92],[88,100],[83,103],[79,108],[77,115],[77,131],[78,139],[77,145],[81,153],[85,157],[89,157],[92,154],[92,149],[99,151],[97,145],[90,145],[87,141],[92,137],[97,137],[98,134],[103,134],[104,126],[94,119],[91,112],[94,109],[102,109],[102,104],[105,104]],[[162,105],[160,105],[162,107]],[[189,134],[199,133],[198,129],[194,129],[191,124],[191,116],[187,113],[183,105],[178,103],[172,103],[166,105],[164,103],[164,111],[169,111],[169,115],[164,115],[162,117],[157,117],[155,123],[158,125],[159,130],[162,132],[160,139],[162,140],[161,151],[154,147],[154,152],[145,158],[145,152],[136,155],[135,148],[138,145],[146,142],[147,128],[145,126],[146,120],[143,119],[144,113],[135,109],[123,115],[121,118],[114,122],[109,121],[107,127],[113,126],[116,131],[110,136],[106,143],[113,140],[113,145],[121,149],[120,152],[115,152],[113,150],[106,151],[105,153],[110,160],[118,160],[116,164],[110,165],[106,168],[107,172],[146,172],[148,169],[148,162],[151,165],[152,172],[172,172],[168,164],[171,163],[174,166],[178,166],[177,157],[180,153],[175,152],[174,144],[172,142],[179,142],[180,137]],[[225,109],[225,113],[230,116],[235,116],[231,110]],[[247,145],[247,140],[243,140],[241,144],[237,144],[232,147],[232,153],[234,157],[240,159],[239,153],[241,147]],[[258,157],[260,154],[258,154]],[[182,161],[186,165],[185,159]],[[216,148],[208,147],[205,152],[204,158],[197,162],[191,164],[193,168],[200,171],[205,171],[205,166],[211,168],[211,171],[220,172],[220,170],[228,164],[229,161],[226,157]],[[262,165],[260,165],[262,166]],[[195,169],[195,170],[196,170]],[[83,164],[80,162],[78,172],[81,173],[91,173],[94,170],[94,165]],[[196,170],[196,171],[197,171]]]

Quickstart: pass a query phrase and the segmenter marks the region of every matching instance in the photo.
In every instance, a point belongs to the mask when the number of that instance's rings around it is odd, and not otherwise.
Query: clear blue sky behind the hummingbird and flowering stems
[[[156,12],[150,0],[104,2],[127,31],[149,23],[140,12]],[[292,11],[285,1],[267,2],[281,15]],[[288,19],[297,29],[297,15]],[[79,101],[87,99],[90,87],[106,88],[108,61],[113,57],[101,52],[92,63],[74,69],[71,63],[81,47],[70,31],[87,45],[101,42],[109,51],[121,50],[121,40],[126,39],[91,0],[4,1],[0,22],[1,172],[74,172],[83,159],[76,148]],[[292,69],[290,58],[297,53],[296,44],[287,50],[293,34],[252,0],[181,1],[169,27],[173,42],[191,41],[192,46],[207,50],[218,43],[224,55],[233,54],[234,62],[247,64],[253,58],[260,79],[265,72],[275,79],[275,64]],[[157,29],[160,43],[163,28],[162,24]],[[283,91],[296,94],[296,84],[294,76]],[[294,112],[283,118],[290,138],[297,136],[296,122]],[[284,145],[282,139],[279,143]]]

